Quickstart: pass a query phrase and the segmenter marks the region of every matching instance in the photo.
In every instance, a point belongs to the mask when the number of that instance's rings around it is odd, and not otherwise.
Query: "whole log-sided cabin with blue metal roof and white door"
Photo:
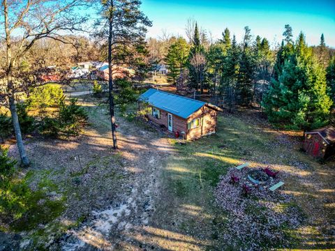
[[[150,121],[184,139],[197,139],[217,130],[221,109],[215,105],[156,89],[143,93],[140,101],[151,107],[147,114]]]

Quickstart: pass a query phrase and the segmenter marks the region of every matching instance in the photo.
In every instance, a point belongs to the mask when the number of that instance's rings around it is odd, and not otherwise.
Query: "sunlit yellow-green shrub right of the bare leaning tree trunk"
[[[31,91],[27,102],[29,108],[57,107],[64,96],[63,90],[56,84],[38,86]]]

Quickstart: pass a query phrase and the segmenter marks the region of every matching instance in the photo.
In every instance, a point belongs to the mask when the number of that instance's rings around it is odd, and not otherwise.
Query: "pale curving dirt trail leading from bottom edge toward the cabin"
[[[119,151],[131,178],[121,185],[118,199],[110,201],[109,207],[93,211],[78,229],[68,231],[61,250],[140,250],[132,233],[148,225],[159,195],[163,162],[172,148],[155,132],[119,122]]]

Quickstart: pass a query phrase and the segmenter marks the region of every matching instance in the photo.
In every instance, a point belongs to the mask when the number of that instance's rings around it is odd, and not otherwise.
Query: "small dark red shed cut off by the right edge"
[[[315,158],[329,158],[335,154],[335,128],[328,126],[305,133],[304,150]]]

